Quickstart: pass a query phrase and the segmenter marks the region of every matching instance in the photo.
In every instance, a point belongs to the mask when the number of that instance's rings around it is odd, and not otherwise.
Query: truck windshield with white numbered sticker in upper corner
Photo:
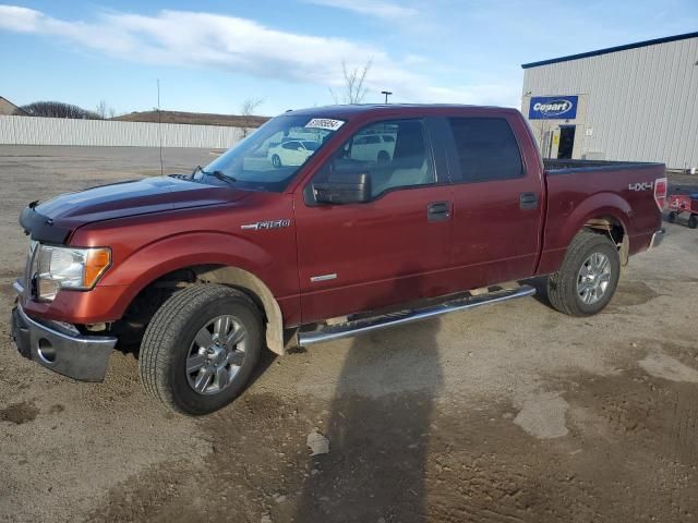
[[[213,184],[228,179],[240,188],[281,192],[344,123],[306,115],[274,118],[193,178]]]

